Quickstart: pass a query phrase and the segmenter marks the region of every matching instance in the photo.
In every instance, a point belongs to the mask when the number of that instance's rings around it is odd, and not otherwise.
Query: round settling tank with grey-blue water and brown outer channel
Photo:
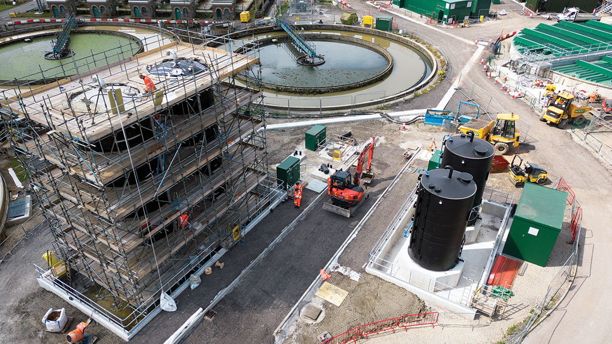
[[[298,65],[292,47],[283,47],[290,44],[282,30],[258,28],[231,36],[261,45],[261,79],[268,108],[319,111],[371,106],[425,87],[441,70],[427,47],[389,32],[322,24],[305,26],[304,33],[315,43],[317,53],[324,55],[323,65]],[[334,61],[341,70],[333,70]]]

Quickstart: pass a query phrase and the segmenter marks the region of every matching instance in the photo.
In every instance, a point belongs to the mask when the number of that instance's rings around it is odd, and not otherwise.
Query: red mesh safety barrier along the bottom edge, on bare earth
[[[408,331],[408,327],[419,326],[419,325],[431,325],[438,323],[438,312],[431,313],[419,313],[402,315],[398,318],[391,318],[387,320],[376,321],[375,323],[365,324],[358,327],[354,327],[349,331],[339,334],[335,337],[329,338],[323,344],[345,344],[348,342],[357,342],[359,337],[367,339],[368,335],[375,334],[378,332],[392,330],[395,333],[395,329],[401,327]]]

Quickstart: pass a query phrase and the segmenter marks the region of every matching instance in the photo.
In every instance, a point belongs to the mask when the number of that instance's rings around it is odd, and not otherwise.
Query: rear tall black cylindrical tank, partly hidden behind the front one
[[[474,197],[472,208],[479,206],[485,184],[491,172],[491,162],[495,148],[482,138],[474,137],[474,132],[452,136],[444,143],[440,166],[450,165],[455,171],[467,172],[472,175],[478,190]]]

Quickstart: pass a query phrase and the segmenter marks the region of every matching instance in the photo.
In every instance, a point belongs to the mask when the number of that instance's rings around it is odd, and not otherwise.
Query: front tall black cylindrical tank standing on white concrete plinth
[[[421,176],[408,254],[433,271],[452,269],[459,261],[476,183],[452,167]]]

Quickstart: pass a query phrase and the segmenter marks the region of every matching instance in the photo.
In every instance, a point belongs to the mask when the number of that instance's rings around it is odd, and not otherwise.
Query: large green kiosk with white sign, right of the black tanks
[[[566,192],[526,183],[503,253],[546,266],[563,226],[566,201]]]

